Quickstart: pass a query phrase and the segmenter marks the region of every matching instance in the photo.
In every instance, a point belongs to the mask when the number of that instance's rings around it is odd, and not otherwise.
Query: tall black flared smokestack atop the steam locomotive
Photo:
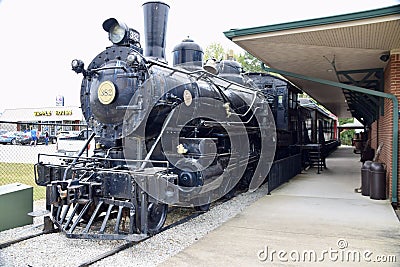
[[[165,61],[165,38],[167,33],[169,5],[162,2],[143,4],[146,57]]]

